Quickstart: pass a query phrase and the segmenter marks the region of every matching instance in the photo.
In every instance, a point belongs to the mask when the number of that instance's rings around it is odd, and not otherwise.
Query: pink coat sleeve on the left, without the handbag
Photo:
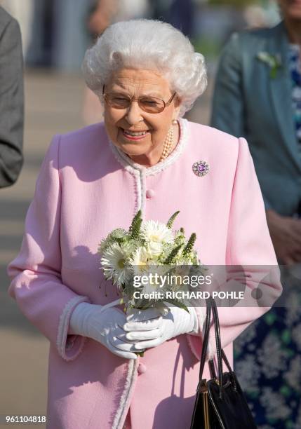
[[[81,297],[61,281],[60,253],[60,136],[53,138],[36,182],[25,221],[25,235],[18,256],[9,264],[8,293],[22,313],[58,348],[65,360],[73,360],[83,348],[82,336],[68,336],[69,318]]]

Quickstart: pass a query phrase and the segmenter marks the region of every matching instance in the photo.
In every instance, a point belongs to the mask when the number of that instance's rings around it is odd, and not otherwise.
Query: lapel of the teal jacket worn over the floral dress
[[[287,150],[298,168],[300,168],[298,163],[298,142],[293,122],[292,88],[288,67],[288,38],[286,36],[286,29],[283,22],[275,27],[274,30],[276,34],[274,34],[268,42],[269,53],[276,55],[280,52],[283,65],[277,71],[274,79],[269,78],[272,107],[274,109],[275,118],[279,125],[283,140],[286,142]]]

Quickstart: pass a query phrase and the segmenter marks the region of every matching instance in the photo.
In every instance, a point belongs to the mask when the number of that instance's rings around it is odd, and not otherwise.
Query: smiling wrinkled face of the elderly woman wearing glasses
[[[112,74],[105,93],[120,93],[134,98],[152,96],[164,102],[173,95],[168,81],[156,71],[126,68]],[[112,142],[128,156],[147,156],[163,146],[171,121],[178,117],[179,109],[180,102],[176,97],[160,113],[143,111],[137,100],[133,100],[127,109],[116,109],[105,103],[105,128]]]

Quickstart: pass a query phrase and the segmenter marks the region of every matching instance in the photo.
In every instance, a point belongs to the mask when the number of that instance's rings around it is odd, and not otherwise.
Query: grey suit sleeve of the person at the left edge
[[[0,29],[0,188],[10,186],[22,168],[23,59],[18,22]]]

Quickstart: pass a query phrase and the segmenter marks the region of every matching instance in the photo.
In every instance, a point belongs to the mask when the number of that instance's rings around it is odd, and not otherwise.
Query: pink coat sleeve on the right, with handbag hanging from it
[[[246,139],[240,138],[238,158],[232,190],[227,235],[226,264],[229,278],[220,290],[233,290],[232,285],[246,285],[243,302],[234,307],[218,308],[222,347],[232,343],[251,322],[260,318],[274,304],[282,292],[280,271],[274,247],[269,236],[265,206],[260,185],[255,174]],[[242,267],[243,270],[237,270]],[[258,306],[251,292],[259,287],[265,294],[266,306]],[[245,303],[245,304],[243,304]],[[196,308],[200,325],[206,308]],[[201,341],[197,336],[188,339],[196,357],[201,355]],[[210,331],[210,357],[215,354],[215,336]]]

